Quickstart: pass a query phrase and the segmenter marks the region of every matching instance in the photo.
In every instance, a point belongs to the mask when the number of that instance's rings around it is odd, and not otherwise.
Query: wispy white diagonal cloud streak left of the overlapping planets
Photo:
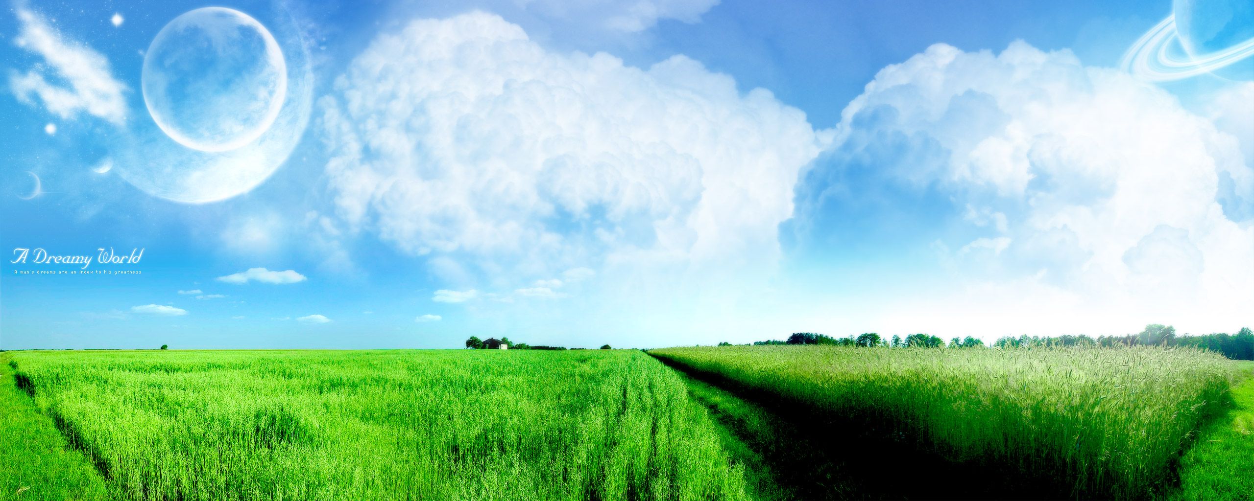
[[[18,100],[33,104],[31,95],[36,95],[48,111],[64,119],[85,111],[118,125],[125,123],[127,86],[113,78],[104,55],[64,38],[34,11],[19,8],[18,20],[21,23],[18,46],[39,54],[46,63],[25,74],[9,74],[9,86]],[[45,70],[69,86],[49,83]]]

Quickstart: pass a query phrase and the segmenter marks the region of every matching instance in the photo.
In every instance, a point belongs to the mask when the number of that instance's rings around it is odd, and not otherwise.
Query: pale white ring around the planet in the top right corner
[[[1254,39],[1249,39],[1220,51],[1181,59],[1167,53],[1171,43],[1178,40],[1175,16],[1171,15],[1127,49],[1121,66],[1146,80],[1166,81],[1210,73],[1254,55]]]

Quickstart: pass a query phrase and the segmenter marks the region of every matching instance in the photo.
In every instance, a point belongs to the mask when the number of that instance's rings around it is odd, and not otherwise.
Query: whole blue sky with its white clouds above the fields
[[[228,152],[144,94],[207,4],[0,14],[0,247],[144,249],[0,262],[0,347],[1254,323],[1254,83],[1121,68],[1169,1],[212,5],[286,64]]]

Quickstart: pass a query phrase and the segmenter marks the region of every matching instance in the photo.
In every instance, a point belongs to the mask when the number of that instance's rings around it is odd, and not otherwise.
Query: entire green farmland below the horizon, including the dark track
[[[1254,362],[1191,349],[0,363],[0,500],[1254,497]]]

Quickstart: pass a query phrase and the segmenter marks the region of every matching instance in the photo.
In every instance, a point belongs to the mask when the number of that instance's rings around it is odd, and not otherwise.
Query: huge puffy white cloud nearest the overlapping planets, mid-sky
[[[769,268],[820,149],[801,111],[688,58],[558,54],[483,13],[380,35],[334,88],[320,125],[339,219],[488,272]]]

